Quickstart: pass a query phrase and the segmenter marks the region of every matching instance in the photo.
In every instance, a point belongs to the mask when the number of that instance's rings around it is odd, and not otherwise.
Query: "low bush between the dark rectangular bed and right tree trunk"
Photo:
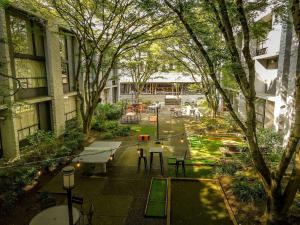
[[[242,202],[264,201],[266,193],[262,183],[242,177],[233,182],[233,194]]]

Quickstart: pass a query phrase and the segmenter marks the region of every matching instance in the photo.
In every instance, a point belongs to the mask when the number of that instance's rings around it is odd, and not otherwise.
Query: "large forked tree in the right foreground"
[[[198,54],[203,57],[209,76],[222,95],[231,116],[247,137],[254,167],[267,193],[265,223],[287,224],[287,212],[293,203],[300,182],[300,76],[297,72],[294,126],[278,168],[271,170],[266,164],[257,141],[255,66],[251,52],[251,40],[258,39],[264,33],[262,21],[256,21],[256,15],[269,5],[269,1],[164,0],[163,2],[162,7],[167,6],[189,34],[197,47]],[[292,3],[294,23],[298,25],[296,21],[299,18],[299,11],[297,11],[299,2],[292,0]],[[166,8],[162,11],[166,11]],[[215,45],[214,37],[216,36],[221,38],[222,45]],[[211,52],[211,50],[215,52],[216,49],[219,49],[224,65],[229,69],[240,92],[245,97],[245,121],[234,111],[229,96],[217,79],[217,69]],[[293,168],[292,174],[287,177],[288,184],[285,185],[283,177],[287,175],[289,166]]]

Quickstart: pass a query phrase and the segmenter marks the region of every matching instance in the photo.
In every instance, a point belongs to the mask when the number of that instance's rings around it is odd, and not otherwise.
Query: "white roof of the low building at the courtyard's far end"
[[[195,76],[197,81],[200,81],[200,76]],[[125,74],[120,76],[120,83],[131,83],[130,75]],[[147,83],[195,83],[193,77],[189,74],[179,72],[156,72],[152,74]]]

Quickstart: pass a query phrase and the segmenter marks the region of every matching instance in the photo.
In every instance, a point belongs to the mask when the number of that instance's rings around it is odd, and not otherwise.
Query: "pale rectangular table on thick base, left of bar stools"
[[[107,163],[114,156],[122,142],[120,141],[94,141],[73,159],[73,162],[93,164],[94,173],[106,173]]]

